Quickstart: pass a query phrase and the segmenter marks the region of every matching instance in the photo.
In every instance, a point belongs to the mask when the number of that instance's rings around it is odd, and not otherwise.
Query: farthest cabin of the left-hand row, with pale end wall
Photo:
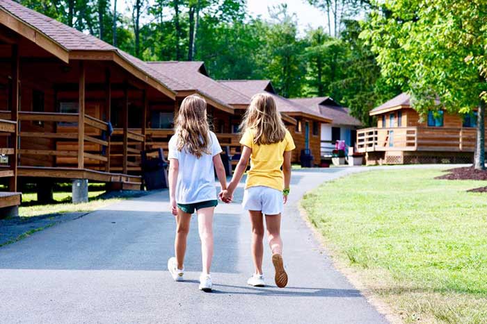
[[[340,140],[344,140],[347,146],[355,147],[357,129],[362,123],[351,116],[348,108],[329,96],[291,100],[333,119],[332,123],[321,123],[321,158],[331,157],[335,143]]]

